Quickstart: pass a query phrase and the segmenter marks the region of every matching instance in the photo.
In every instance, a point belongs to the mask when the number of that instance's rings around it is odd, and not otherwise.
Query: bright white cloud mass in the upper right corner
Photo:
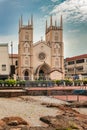
[[[87,20],[87,0],[66,0],[56,5],[51,14],[62,14],[66,22],[83,22]]]

